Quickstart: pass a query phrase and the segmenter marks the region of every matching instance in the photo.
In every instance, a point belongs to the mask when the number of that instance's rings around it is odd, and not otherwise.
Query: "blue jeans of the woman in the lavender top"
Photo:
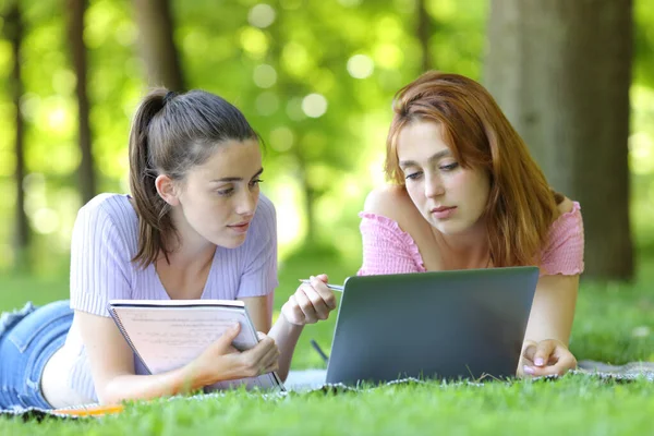
[[[48,360],[63,342],[73,322],[69,301],[0,316],[0,409],[51,409],[40,389]]]

